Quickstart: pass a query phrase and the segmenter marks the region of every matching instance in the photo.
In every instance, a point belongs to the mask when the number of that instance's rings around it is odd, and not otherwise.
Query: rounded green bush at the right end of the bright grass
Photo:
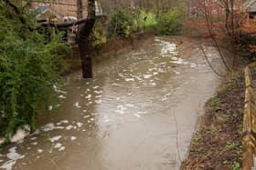
[[[157,18],[157,23],[157,35],[176,35],[182,28],[182,15],[176,11],[164,12]]]

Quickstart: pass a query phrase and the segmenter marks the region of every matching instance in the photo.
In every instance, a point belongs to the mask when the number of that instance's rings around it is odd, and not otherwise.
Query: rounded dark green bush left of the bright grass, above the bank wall
[[[111,16],[109,34],[128,38],[133,34],[134,21],[131,14],[126,11],[118,10]]]

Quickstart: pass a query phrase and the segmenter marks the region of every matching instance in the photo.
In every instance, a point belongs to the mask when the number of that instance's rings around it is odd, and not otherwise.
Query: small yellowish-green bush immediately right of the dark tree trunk
[[[91,47],[94,50],[100,50],[107,43],[107,38],[103,34],[103,25],[101,21],[96,21],[92,33],[90,35]]]

